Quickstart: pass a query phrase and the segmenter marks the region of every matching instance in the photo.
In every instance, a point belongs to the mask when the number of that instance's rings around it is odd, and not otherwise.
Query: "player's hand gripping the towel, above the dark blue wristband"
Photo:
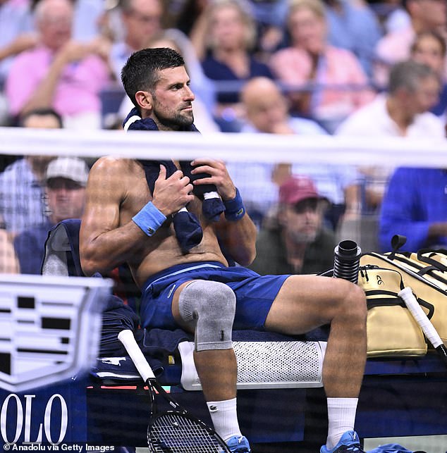
[[[233,181],[228,175],[224,161],[219,159],[211,159],[208,157],[200,157],[191,162],[194,166],[191,174],[195,173],[208,173],[210,178],[200,178],[193,182],[194,185],[214,184],[217,192],[224,201],[231,200],[236,196],[236,188]]]

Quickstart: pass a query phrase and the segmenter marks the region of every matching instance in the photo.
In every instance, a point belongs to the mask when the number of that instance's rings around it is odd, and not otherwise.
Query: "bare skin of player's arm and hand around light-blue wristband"
[[[90,170],[80,227],[80,261],[85,275],[111,271],[131,261],[147,241],[157,240],[146,235],[132,219],[120,224],[120,209],[135,184],[136,176],[130,173],[129,165],[130,161],[124,159],[102,158]],[[169,216],[193,199],[191,191],[189,178],[184,178],[183,173],[176,171],[166,179],[166,169],[161,167],[152,204]],[[145,209],[145,205],[134,208],[130,217]]]

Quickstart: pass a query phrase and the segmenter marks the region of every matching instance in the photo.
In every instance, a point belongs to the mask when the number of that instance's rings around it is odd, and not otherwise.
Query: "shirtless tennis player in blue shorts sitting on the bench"
[[[142,121],[155,130],[188,130],[193,123],[190,79],[171,49],[135,52],[122,71],[125,91]],[[148,139],[150,149],[150,139]],[[190,178],[161,166],[149,190],[141,163],[103,157],[90,171],[80,230],[86,275],[128,263],[142,290],[146,328],[182,327],[195,333],[195,365],[214,428],[232,452],[250,452],[236,415],[237,365],[231,330],[300,334],[331,324],[323,365],[329,433],[321,452],[363,452],[354,431],[366,360],[365,294],[347,280],[314,275],[260,276],[244,265],[255,257],[256,228],[245,213],[223,161],[194,159],[195,185],[214,184],[226,211],[205,221]],[[203,238],[180,249],[169,220],[184,206],[195,213]],[[222,244],[242,266],[228,266]],[[226,255],[228,256],[228,255]]]

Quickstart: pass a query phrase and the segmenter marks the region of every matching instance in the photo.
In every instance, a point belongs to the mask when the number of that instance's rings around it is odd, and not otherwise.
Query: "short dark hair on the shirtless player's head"
[[[185,66],[183,57],[168,47],[142,49],[134,52],[121,70],[121,82],[126,94],[137,107],[135,93],[154,92],[159,81],[159,71]]]

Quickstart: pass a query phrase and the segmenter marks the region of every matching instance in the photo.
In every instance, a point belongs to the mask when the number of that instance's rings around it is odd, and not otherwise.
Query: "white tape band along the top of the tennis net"
[[[0,154],[48,156],[126,156],[135,159],[331,163],[334,165],[446,166],[447,141],[400,137],[333,137],[189,132],[124,134],[119,130],[85,131],[0,128]]]

